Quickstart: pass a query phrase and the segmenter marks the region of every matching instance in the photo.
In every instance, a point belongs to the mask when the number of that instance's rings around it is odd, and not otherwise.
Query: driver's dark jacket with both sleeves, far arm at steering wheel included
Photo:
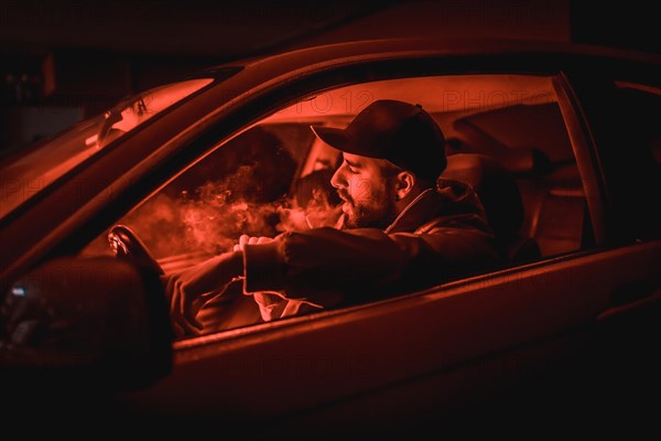
[[[384,230],[288,232],[269,244],[246,245],[242,258],[243,293],[269,321],[429,288],[492,266],[499,252],[473,189],[441,181]],[[235,261],[227,252],[164,277],[177,333],[199,331],[199,309],[236,287]]]

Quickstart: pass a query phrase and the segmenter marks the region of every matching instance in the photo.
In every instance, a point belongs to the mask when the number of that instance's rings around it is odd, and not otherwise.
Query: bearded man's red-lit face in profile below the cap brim
[[[343,153],[344,162],[330,184],[344,201],[345,225],[349,228],[386,228],[397,209],[384,160]]]

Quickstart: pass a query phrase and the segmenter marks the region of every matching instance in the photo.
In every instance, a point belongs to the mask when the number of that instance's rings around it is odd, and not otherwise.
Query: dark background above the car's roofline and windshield
[[[659,53],[651,2],[9,0],[0,6],[0,152],[203,67],[360,39],[577,42]]]

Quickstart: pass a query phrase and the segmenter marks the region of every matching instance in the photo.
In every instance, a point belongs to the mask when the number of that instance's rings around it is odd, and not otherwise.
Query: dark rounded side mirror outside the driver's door
[[[172,367],[172,329],[159,276],[126,261],[62,258],[2,293],[0,387],[149,387]]]

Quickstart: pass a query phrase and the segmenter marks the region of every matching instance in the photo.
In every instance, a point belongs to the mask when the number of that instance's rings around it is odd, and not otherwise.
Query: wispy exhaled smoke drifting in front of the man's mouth
[[[156,258],[231,250],[239,236],[274,237],[293,229],[337,226],[340,207],[323,182],[299,186],[294,197],[273,198],[268,180],[254,166],[240,166],[224,180],[207,182],[194,194],[162,192],[123,222],[133,227]],[[172,192],[171,192],[172,193]],[[267,195],[264,197],[264,195]]]

